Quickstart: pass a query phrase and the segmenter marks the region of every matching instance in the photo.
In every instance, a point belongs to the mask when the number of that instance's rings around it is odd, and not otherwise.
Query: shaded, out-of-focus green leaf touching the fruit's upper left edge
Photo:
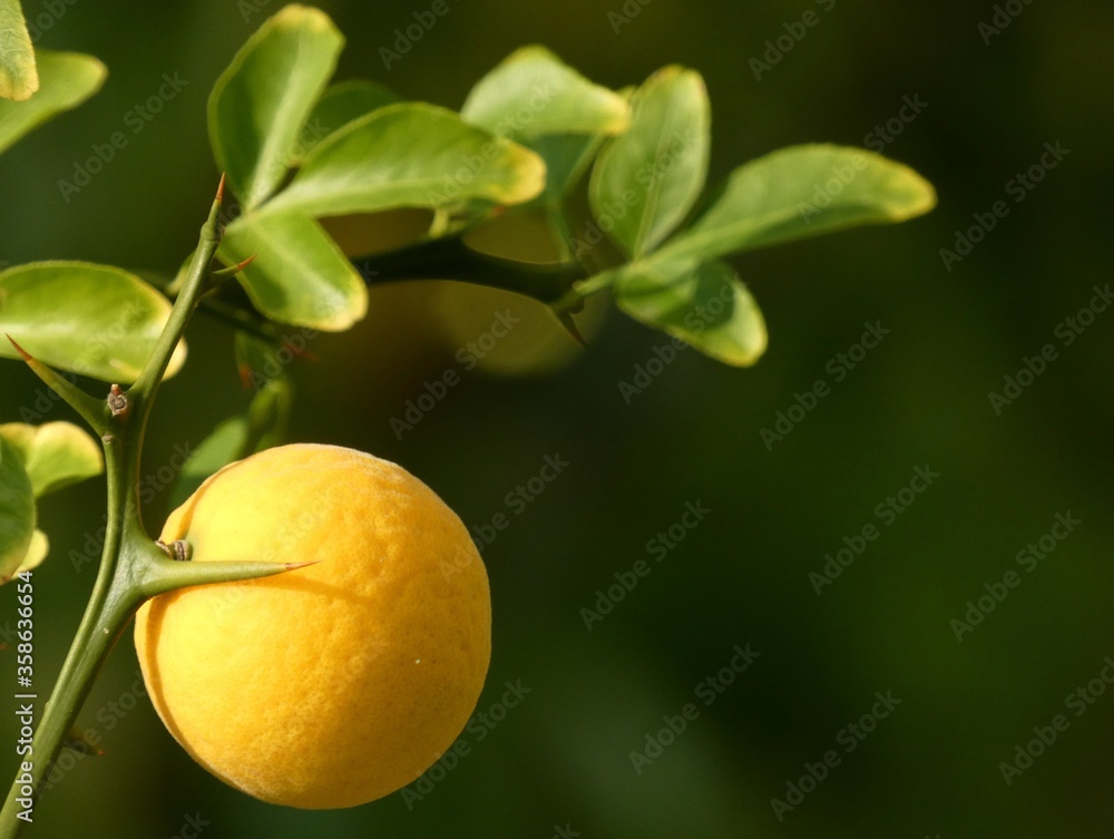
[[[278,379],[268,381],[252,399],[247,413],[222,422],[189,453],[170,494],[170,507],[184,504],[222,467],[277,445],[289,413],[290,386]]]

